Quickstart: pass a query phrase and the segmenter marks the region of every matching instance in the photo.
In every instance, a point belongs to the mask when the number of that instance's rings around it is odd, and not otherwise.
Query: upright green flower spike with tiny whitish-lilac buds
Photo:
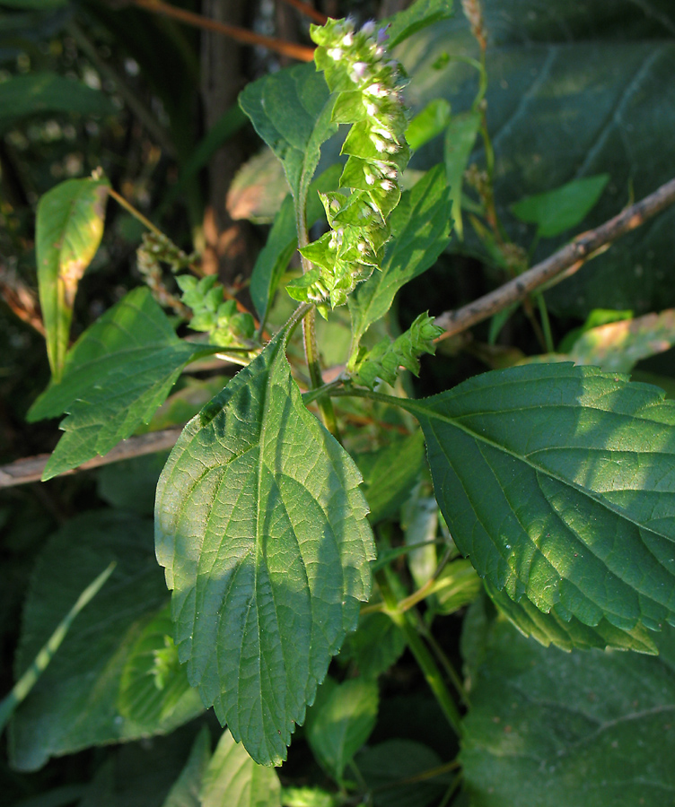
[[[351,20],[329,20],[312,26],[311,38],[319,46],[317,69],[337,93],[332,119],[352,124],[342,146],[348,159],[339,183],[351,193],[320,194],[330,230],[300,250],[315,268],[288,291],[294,299],[329,299],[335,307],[380,267],[390,236],[387,217],[399,204],[399,171],[410,150],[399,64],[387,56],[386,30],[377,30],[374,22],[355,30]]]

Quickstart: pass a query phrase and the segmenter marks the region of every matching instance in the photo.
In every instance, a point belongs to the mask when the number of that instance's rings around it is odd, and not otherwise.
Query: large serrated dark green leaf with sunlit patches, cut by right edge
[[[569,364],[406,401],[452,538],[518,602],[584,625],[675,622],[675,404]]]

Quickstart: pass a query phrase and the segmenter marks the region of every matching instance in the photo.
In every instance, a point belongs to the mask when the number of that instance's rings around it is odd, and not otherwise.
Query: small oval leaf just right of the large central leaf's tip
[[[377,720],[375,681],[354,678],[338,684],[307,721],[307,742],[329,774],[342,781],[346,766],[370,737]]]

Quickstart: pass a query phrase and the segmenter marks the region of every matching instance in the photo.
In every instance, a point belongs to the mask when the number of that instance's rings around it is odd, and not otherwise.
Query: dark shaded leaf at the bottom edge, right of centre
[[[439,768],[441,759],[421,742],[381,742],[362,751],[356,765],[373,792],[375,807],[426,807],[447,788],[443,778],[426,776]]]

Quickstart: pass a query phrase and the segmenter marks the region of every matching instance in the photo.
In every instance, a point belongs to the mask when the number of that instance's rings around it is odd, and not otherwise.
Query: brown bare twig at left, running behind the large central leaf
[[[179,435],[180,429],[164,429],[162,431],[150,431],[147,434],[122,440],[105,456],[96,456],[89,462],[83,463],[73,471],[66,473],[87,471],[90,468],[98,468],[100,465],[130,459],[132,456],[143,456],[153,454],[155,451],[165,451],[167,448],[173,447]],[[24,457],[8,465],[0,465],[0,488],[11,488],[13,485],[23,485],[26,482],[38,482],[42,478],[42,472],[45,470],[48,459],[48,454],[40,454],[39,456]],[[65,476],[66,474],[63,475]]]

